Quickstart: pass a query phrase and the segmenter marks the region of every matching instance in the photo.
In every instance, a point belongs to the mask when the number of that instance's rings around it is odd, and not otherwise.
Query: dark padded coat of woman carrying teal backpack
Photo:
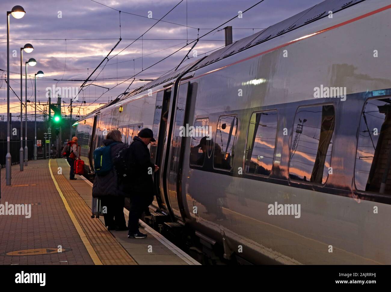
[[[113,140],[103,140],[104,146],[109,146],[114,143]],[[118,142],[117,142],[118,143]],[[113,160],[115,155],[125,148],[126,144],[119,142],[118,144],[111,146],[111,159]],[[119,189],[117,171],[112,167],[111,171],[103,176],[95,175],[94,183],[92,186],[93,198],[102,196],[124,196],[125,194]]]

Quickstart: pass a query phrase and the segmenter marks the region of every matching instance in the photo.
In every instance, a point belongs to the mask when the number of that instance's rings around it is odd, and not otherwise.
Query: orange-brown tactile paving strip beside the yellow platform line
[[[90,217],[91,210],[62,174],[57,174],[57,161],[50,160],[50,168],[88,241],[104,265],[137,265],[136,261],[117,242],[99,219]]]

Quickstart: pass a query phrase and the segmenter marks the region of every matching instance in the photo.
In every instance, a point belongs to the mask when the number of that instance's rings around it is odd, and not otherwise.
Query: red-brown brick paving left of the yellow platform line
[[[0,203],[32,204],[31,217],[0,215],[0,265],[94,264],[50,176],[48,160],[29,161],[24,171],[19,169],[12,166],[11,186],[5,185],[1,169]],[[63,252],[55,251],[58,246]],[[18,255],[7,255],[15,251]]]

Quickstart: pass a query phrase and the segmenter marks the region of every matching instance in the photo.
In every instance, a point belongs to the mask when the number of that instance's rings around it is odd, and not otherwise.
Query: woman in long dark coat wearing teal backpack
[[[124,193],[118,189],[117,171],[112,163],[117,153],[127,146],[122,143],[121,132],[118,130],[109,131],[103,144],[104,146],[94,151],[94,161],[97,159],[100,164],[96,166],[94,163],[95,178],[92,196],[100,198],[103,211],[106,207],[106,213],[103,213],[103,217],[108,230],[127,230],[124,215]],[[95,157],[98,155],[100,156]]]

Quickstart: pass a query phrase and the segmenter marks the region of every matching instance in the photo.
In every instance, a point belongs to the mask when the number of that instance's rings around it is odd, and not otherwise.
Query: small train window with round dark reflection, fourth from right
[[[238,117],[221,116],[217,123],[213,167],[230,170],[235,155]]]

